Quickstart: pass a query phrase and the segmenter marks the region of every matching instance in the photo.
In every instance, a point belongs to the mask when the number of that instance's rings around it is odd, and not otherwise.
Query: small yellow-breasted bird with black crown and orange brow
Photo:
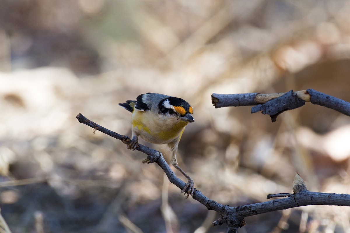
[[[132,139],[127,148],[135,150],[138,138],[152,144],[167,144],[172,154],[172,165],[188,180],[181,192],[186,198],[194,195],[193,180],[179,167],[176,153],[181,136],[188,123],[194,122],[193,108],[185,100],[169,95],[146,93],[135,100],[127,100],[119,105],[132,112]]]

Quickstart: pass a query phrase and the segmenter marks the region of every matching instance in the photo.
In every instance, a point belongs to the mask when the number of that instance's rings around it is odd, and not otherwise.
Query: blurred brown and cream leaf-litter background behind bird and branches
[[[0,207],[13,233],[221,233],[145,154],[80,124],[131,135],[118,106],[187,100],[180,167],[230,206],[292,192],[349,193],[350,118],[306,103],[277,122],[212,93],[313,88],[350,101],[347,0],[0,0]],[[161,150],[166,146],[141,144]],[[176,172],[180,179],[181,174]],[[247,217],[239,232],[350,232],[349,207]]]

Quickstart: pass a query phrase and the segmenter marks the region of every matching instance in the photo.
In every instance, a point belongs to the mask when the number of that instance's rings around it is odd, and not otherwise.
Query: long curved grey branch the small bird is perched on
[[[130,143],[131,139],[116,132],[110,131],[92,121],[81,114],[78,114],[77,119],[80,123],[86,124],[95,130],[103,132],[111,137],[123,141],[123,143]],[[168,163],[163,158],[163,155],[152,148],[139,144],[135,148],[140,152],[147,154],[147,159],[143,162],[157,163],[169,178],[169,181],[175,184],[180,189],[185,187],[185,182],[180,180],[169,167]],[[299,174],[295,174],[293,180],[293,194],[270,194],[268,198],[272,197],[286,197],[282,199],[275,199],[272,201],[255,203],[250,205],[230,207],[228,205],[220,204],[214,200],[209,199],[202,194],[201,191],[195,189],[193,199],[203,204],[208,210],[214,210],[220,214],[220,218],[212,223],[212,226],[228,225],[230,233],[237,232],[239,227],[245,225],[244,218],[261,213],[272,212],[276,210],[289,209],[303,205],[343,205],[350,206],[349,194],[328,194],[321,192],[310,192],[306,189],[305,182],[301,179]]]

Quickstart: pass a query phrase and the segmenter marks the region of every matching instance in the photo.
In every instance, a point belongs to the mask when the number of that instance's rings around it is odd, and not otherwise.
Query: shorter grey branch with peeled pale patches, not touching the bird
[[[272,122],[275,122],[277,116],[283,111],[299,108],[303,106],[305,102],[331,108],[344,115],[350,116],[349,102],[318,92],[314,89],[300,90],[297,92],[290,90],[286,93],[273,94],[246,93],[226,95],[213,93],[211,102],[214,104],[215,108],[257,105],[252,108],[252,113],[261,111],[262,114],[268,114],[271,116]]]

